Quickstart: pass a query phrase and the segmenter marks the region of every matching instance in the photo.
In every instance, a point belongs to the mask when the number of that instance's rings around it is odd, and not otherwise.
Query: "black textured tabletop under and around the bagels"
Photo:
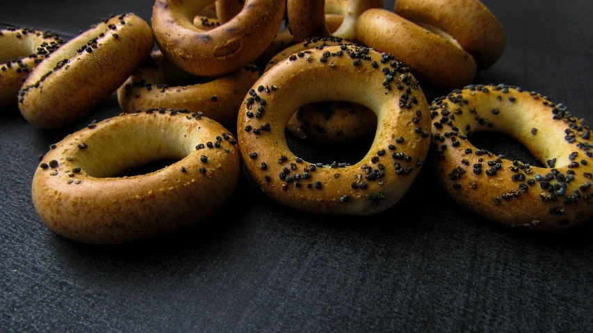
[[[2,1],[0,23],[70,39],[102,17],[153,1]],[[393,8],[393,1],[386,6]],[[588,0],[485,0],[507,47],[475,83],[540,92],[593,119],[593,9]],[[446,91],[423,85],[429,100]],[[72,126],[40,130],[0,112],[0,330],[379,332],[593,331],[590,221],[530,234],[488,223],[446,198],[424,169],[400,203],[375,216],[318,216],[263,194],[243,171],[219,212],[189,230],[127,246],[88,246],[45,227],[31,180],[49,144],[120,113],[115,96]],[[345,145],[291,148],[357,162]],[[531,159],[499,136],[480,148]]]

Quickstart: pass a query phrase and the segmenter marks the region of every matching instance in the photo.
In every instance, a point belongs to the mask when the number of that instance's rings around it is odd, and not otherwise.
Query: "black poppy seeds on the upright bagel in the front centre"
[[[324,46],[323,45],[318,45],[316,46],[316,49],[319,51],[323,51]],[[371,49],[364,47],[364,46],[346,46],[346,45],[341,45],[340,50],[339,51],[335,51],[335,52],[330,52],[330,51],[324,51],[321,54],[321,57],[319,58],[319,62],[322,62],[324,64],[329,65],[330,67],[334,67],[335,63],[332,62],[332,57],[349,57],[350,59],[352,59],[352,65],[353,66],[357,66],[357,67],[361,67],[361,66],[370,66],[373,69],[379,69],[379,65],[377,61],[372,61],[371,56],[368,54],[369,51],[371,51]],[[313,55],[313,51],[303,51],[303,52],[299,52],[296,55],[291,56],[291,58],[289,58],[289,60],[291,61],[297,61],[297,60],[304,60],[306,62],[312,62],[314,61],[314,55]],[[388,83],[396,83],[397,85],[397,89],[398,90],[402,90],[403,93],[400,96],[400,101],[399,101],[399,106],[400,108],[404,108],[404,109],[412,109],[414,108],[414,105],[417,105],[419,103],[418,99],[416,98],[416,96],[414,96],[414,91],[417,91],[417,89],[419,89],[419,84],[418,82],[413,78],[413,76],[411,74],[409,74],[409,68],[403,66],[403,64],[401,62],[396,62],[393,60],[393,56],[389,55],[387,53],[382,53],[382,58],[380,60],[381,63],[387,63],[389,62],[389,65],[392,67],[392,69],[389,69],[389,67],[384,67],[384,69],[382,69],[383,73],[385,74],[386,78],[389,78],[389,82]],[[334,64],[334,65],[332,65]],[[390,86],[390,84],[383,84],[382,87],[386,87],[387,90],[391,90],[389,88],[387,88],[387,86]],[[401,86],[401,87],[400,87]],[[246,116],[247,118],[252,119],[252,121],[254,121],[253,118],[257,118],[260,119],[259,121],[261,121],[261,118],[264,115],[264,112],[266,110],[266,100],[263,99],[260,94],[271,94],[273,93],[275,86],[272,86],[271,88],[268,86],[263,86],[260,85],[259,87],[257,87],[257,89],[251,89],[249,92],[250,97],[247,97],[247,99],[245,99],[244,103],[246,105],[247,108],[247,112],[246,112]],[[256,91],[257,90],[257,91]],[[259,92],[259,94],[258,94]],[[387,94],[387,92],[386,92]],[[265,95],[263,95],[265,97]],[[261,101],[263,101],[263,103],[261,103]],[[256,113],[254,113],[254,110],[257,110]],[[414,124],[418,124],[421,121],[422,117],[422,112],[421,110],[416,110],[416,112],[414,112],[414,114],[412,114],[414,117],[412,117],[412,122]],[[330,113],[331,116],[331,113]],[[428,115],[425,115],[424,117],[428,117]],[[266,123],[266,126],[268,126],[269,128],[269,124]],[[247,126],[245,126],[245,131],[246,132],[250,132],[252,131],[254,134],[259,135],[261,133],[261,130],[259,130],[259,128],[253,128],[252,124],[248,124]],[[415,130],[416,133],[419,133],[423,138],[428,139],[430,137],[430,133],[428,132],[428,130],[425,130],[421,127],[416,127]],[[393,166],[393,169],[396,173],[396,175],[398,176],[406,176],[409,175],[410,173],[412,173],[414,171],[414,167],[421,167],[424,164],[424,160],[421,159],[417,159],[414,162],[414,157],[410,156],[410,155],[406,155],[406,153],[404,151],[397,151],[398,150],[398,146],[405,146],[405,137],[396,137],[396,139],[394,140],[395,142],[393,142],[393,144],[389,144],[387,147],[385,147],[384,149],[381,149],[380,151],[377,151],[377,155],[375,155],[374,157],[371,158],[371,163],[368,164],[362,164],[361,166],[361,171],[360,173],[357,173],[354,177],[354,181],[350,184],[350,187],[354,190],[371,190],[371,188],[369,188],[369,182],[376,182],[377,185],[384,185],[384,176],[386,174],[386,168],[385,167],[385,162],[383,162],[384,160],[388,160],[389,164],[391,164]],[[388,153],[389,152],[389,153]],[[257,152],[251,152],[249,154],[249,157],[251,160],[257,160],[258,158],[258,154]],[[391,157],[391,158],[389,158]],[[278,160],[278,163],[282,164],[282,171],[279,172],[278,174],[278,178],[279,180],[282,181],[281,183],[281,188],[286,191],[288,190],[291,186],[289,185],[293,185],[293,187],[300,189],[302,187],[307,187],[307,189],[323,189],[323,184],[320,182],[320,180],[316,180],[315,179],[315,171],[317,169],[323,168],[323,167],[330,167],[332,169],[339,169],[339,168],[345,168],[345,167],[350,167],[350,164],[347,163],[338,163],[338,162],[334,162],[332,164],[330,164],[329,166],[327,165],[323,165],[323,164],[309,164],[306,166],[300,166],[299,164],[304,163],[302,159],[300,159],[299,157],[295,158],[294,162],[291,162],[287,159],[286,156],[281,156]],[[268,171],[269,170],[269,162],[260,162],[260,170],[261,171]],[[387,165],[389,165],[387,164]],[[296,172],[298,169],[302,169],[302,173],[301,172]],[[266,172],[267,173],[267,172]],[[336,172],[334,173],[334,178],[340,178],[340,173]],[[270,177],[268,175],[263,176],[263,180],[265,182],[271,182],[274,178]],[[304,185],[303,183],[306,182],[307,185]],[[376,206],[380,203],[380,201],[385,199],[385,194],[383,191],[378,191],[377,194],[371,194],[371,193],[367,193],[364,196],[367,200],[371,201],[371,205]],[[341,203],[348,203],[351,200],[351,197],[348,195],[343,195],[340,196],[339,198],[337,198]]]

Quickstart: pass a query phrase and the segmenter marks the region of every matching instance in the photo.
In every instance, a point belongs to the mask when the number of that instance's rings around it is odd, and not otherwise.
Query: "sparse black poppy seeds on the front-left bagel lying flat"
[[[158,114],[166,114],[168,112],[168,114],[170,116],[177,116],[178,114],[189,114],[189,112],[185,112],[184,110],[173,110],[170,109],[169,111],[165,110],[165,108],[152,108],[152,109],[148,109],[146,110],[144,113],[146,114],[153,114],[153,113],[158,113]],[[138,111],[136,114],[133,114],[134,116],[137,116],[139,113],[142,113],[141,111]],[[120,114],[121,116],[125,115],[125,114]],[[188,116],[186,116],[186,119],[191,120],[191,119],[196,119],[196,120],[201,120],[202,119],[202,112],[198,112],[198,113],[192,113]],[[92,123],[90,123],[90,125],[87,126],[87,128],[89,129],[93,129],[97,126],[97,121],[92,121]],[[235,146],[237,144],[236,139],[234,139],[233,135],[227,131],[225,133],[221,133],[220,135],[218,135],[215,139],[214,142],[206,142],[206,144],[200,143],[197,144],[195,146],[195,150],[199,151],[200,149],[204,149],[204,148],[213,148],[213,149],[219,149],[222,148],[225,153],[230,153],[230,149],[228,147],[224,147],[223,146],[223,142],[228,142],[231,146]],[[52,144],[51,146],[49,146],[50,149],[56,149],[57,146],[55,144]],[[78,148],[79,150],[85,150],[87,148],[89,148],[88,144],[86,144],[86,142],[81,142],[79,144],[77,144],[76,148]],[[43,160],[44,155],[40,155],[40,162]],[[65,157],[66,160],[68,162],[72,162],[74,159],[73,157]],[[198,171],[200,171],[200,173],[205,174],[207,172],[206,169],[206,165],[208,162],[208,157],[206,157],[206,155],[200,155],[200,162],[202,162],[202,164],[204,164],[203,166],[200,167],[200,169],[198,169]],[[58,175],[58,166],[59,166],[59,162],[57,160],[50,160],[49,162],[41,162],[39,164],[39,167],[41,169],[53,169],[51,171],[51,173],[49,173],[50,176],[57,176]],[[188,169],[186,169],[186,167],[181,167],[180,171],[182,173],[188,173]],[[70,178],[75,178],[76,176],[88,176],[86,173],[83,172],[83,170],[80,167],[74,167],[71,170],[66,170],[65,173],[67,174],[68,177]],[[72,180],[69,179],[67,180],[67,184],[80,184],[82,182],[82,180],[77,179],[77,180]]]

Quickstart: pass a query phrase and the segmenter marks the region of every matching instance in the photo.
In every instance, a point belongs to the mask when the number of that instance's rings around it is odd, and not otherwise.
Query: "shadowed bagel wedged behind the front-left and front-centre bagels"
[[[143,67],[138,68],[117,90],[124,112],[151,108],[172,108],[202,112],[220,123],[236,121],[243,94],[259,78],[259,69],[250,65],[200,83],[197,78],[171,64],[160,51],[154,51]]]

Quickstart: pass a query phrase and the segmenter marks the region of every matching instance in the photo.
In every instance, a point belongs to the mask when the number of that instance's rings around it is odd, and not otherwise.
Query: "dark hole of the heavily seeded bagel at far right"
[[[473,133],[468,137],[468,140],[476,148],[486,149],[494,155],[502,154],[507,160],[519,160],[531,164],[533,167],[546,168],[526,146],[507,135],[494,132],[478,132]]]

